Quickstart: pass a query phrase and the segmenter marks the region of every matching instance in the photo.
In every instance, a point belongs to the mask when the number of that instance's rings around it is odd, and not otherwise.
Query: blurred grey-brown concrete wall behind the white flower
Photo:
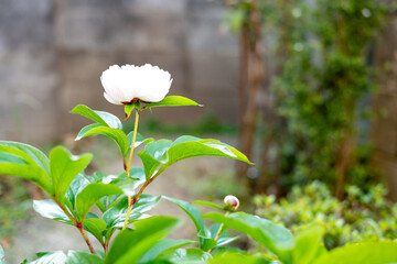
[[[122,109],[103,98],[112,64],[151,63],[173,77],[170,95],[205,109],[154,110],[194,121],[213,110],[237,119],[237,37],[221,34],[224,9],[206,0],[1,0],[0,139],[43,142],[81,128],[77,103]]]

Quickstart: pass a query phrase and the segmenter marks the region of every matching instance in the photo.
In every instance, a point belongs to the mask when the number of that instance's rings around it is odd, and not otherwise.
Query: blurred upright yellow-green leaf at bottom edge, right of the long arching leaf
[[[311,264],[325,253],[322,243],[324,232],[324,228],[318,224],[300,230],[296,235],[296,246],[292,251],[293,263]]]

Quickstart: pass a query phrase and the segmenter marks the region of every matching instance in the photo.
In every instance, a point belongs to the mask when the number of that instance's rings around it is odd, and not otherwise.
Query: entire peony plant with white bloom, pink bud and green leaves
[[[111,66],[100,77],[104,97],[110,103],[124,106],[126,119],[135,112],[135,129],[126,134],[121,121],[114,114],[79,105],[72,113],[90,119],[76,140],[89,135],[105,135],[115,141],[120,153],[122,170],[115,175],[84,169],[92,154],[73,155],[56,146],[46,156],[28,144],[0,141],[0,174],[15,175],[37,185],[47,199],[34,200],[33,208],[44,218],[76,228],[87,244],[87,252],[69,250],[41,252],[36,260],[23,263],[60,264],[329,264],[329,263],[395,263],[397,245],[390,241],[347,245],[326,252],[320,242],[323,228],[313,226],[296,237],[286,228],[267,219],[236,211],[239,200],[226,196],[224,205],[211,201],[187,201],[168,196],[150,196],[146,188],[174,163],[195,156],[223,156],[251,164],[248,158],[225,143],[212,139],[183,135],[175,141],[153,140],[138,133],[139,114],[153,107],[200,106],[180,96],[167,96],[172,84],[168,72],[143,66]],[[131,167],[135,150],[143,167]],[[120,167],[121,168],[121,167]],[[171,240],[168,234],[180,220],[168,216],[149,216],[160,199],[180,207],[196,228],[195,239]],[[195,206],[216,211],[201,215]],[[93,208],[96,207],[96,210]],[[206,226],[204,219],[212,222]],[[248,235],[260,245],[255,253],[244,252],[230,243],[238,237],[229,229]],[[100,244],[94,248],[92,240]],[[357,255],[360,254],[360,256]],[[0,248],[0,264],[4,263]]]

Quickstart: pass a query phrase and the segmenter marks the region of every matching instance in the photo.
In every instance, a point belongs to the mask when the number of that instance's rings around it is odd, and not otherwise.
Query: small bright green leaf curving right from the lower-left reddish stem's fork
[[[77,219],[83,221],[90,208],[104,196],[122,194],[120,187],[111,184],[89,184],[76,196]]]

